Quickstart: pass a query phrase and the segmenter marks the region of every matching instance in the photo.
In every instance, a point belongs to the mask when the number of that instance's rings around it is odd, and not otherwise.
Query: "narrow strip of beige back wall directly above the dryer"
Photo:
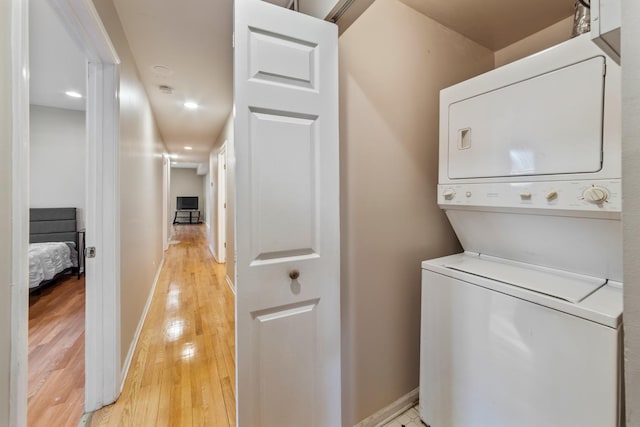
[[[571,38],[573,16],[495,52],[495,66],[513,62]]]

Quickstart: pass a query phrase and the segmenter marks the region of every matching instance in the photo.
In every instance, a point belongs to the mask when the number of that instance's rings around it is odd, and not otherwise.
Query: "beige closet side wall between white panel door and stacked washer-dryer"
[[[343,425],[418,387],[420,262],[460,246],[436,204],[439,91],[493,52],[398,0],[340,37]]]

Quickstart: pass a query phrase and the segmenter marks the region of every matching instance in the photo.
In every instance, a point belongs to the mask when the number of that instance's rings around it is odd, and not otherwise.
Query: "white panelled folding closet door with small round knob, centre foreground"
[[[235,2],[237,417],[339,426],[338,31]]]

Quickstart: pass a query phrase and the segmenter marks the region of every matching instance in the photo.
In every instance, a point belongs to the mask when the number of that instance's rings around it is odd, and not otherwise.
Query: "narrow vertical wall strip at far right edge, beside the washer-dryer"
[[[622,192],[627,425],[640,426],[640,2],[622,2]]]

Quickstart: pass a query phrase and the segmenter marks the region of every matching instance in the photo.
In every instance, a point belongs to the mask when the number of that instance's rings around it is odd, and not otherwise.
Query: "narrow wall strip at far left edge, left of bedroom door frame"
[[[11,2],[0,0],[0,426],[9,425],[11,373]]]

